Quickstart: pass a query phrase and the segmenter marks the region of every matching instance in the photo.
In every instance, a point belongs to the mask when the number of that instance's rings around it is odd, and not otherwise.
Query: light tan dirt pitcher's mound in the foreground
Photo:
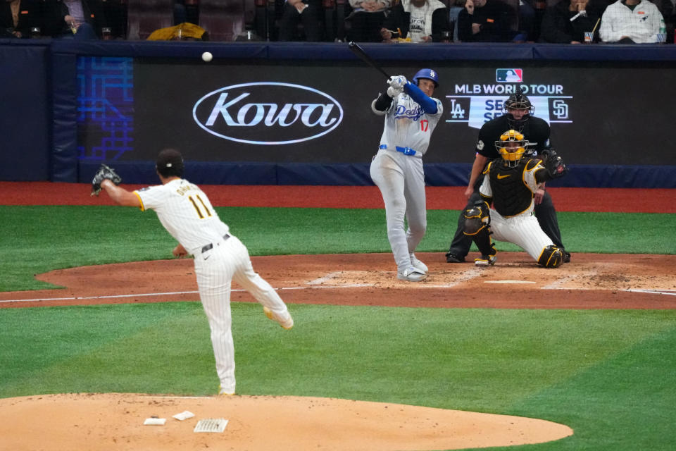
[[[195,416],[184,421],[173,415]],[[152,416],[163,426],[144,426]],[[227,419],[222,433],[195,433]],[[3,450],[458,450],[542,443],[568,426],[519,416],[318,397],[64,394],[0,400]]]

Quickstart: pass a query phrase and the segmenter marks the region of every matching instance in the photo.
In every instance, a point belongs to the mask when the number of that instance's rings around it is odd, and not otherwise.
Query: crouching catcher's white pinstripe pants
[[[537,218],[532,214],[503,218],[501,214],[491,209],[491,230],[494,240],[511,242],[517,245],[535,261],[542,254],[542,249],[554,245],[551,238],[540,228]]]

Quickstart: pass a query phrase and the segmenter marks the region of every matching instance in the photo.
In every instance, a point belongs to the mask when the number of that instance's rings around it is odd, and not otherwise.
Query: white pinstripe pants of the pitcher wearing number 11
[[[233,235],[213,243],[213,248],[207,252],[195,255],[195,274],[199,297],[211,328],[216,373],[221,388],[234,393],[234,343],[230,313],[232,280],[275,314],[286,316],[287,306],[275,289],[253,271],[249,251]]]

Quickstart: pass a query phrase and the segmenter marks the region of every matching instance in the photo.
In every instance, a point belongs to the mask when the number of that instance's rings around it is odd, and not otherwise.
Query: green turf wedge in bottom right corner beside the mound
[[[676,324],[665,325],[633,346],[618,348],[607,359],[513,405],[515,414],[550,419],[575,430],[574,437],[561,442],[516,449],[675,449],[676,354],[672,350]]]

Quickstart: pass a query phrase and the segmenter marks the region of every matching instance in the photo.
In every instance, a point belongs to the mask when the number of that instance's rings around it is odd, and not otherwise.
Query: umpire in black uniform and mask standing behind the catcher
[[[479,187],[484,179],[482,172],[489,161],[501,158],[500,154],[493,145],[500,140],[505,130],[517,130],[521,132],[525,139],[530,142],[530,149],[527,152],[542,152],[549,147],[549,124],[541,118],[532,116],[534,108],[530,99],[523,94],[521,87],[516,88],[515,94],[512,94],[504,105],[504,114],[484,123],[479,130],[479,139],[477,140],[477,156],[472,163],[472,173],[470,173],[470,183],[465,196],[468,198],[468,204],[465,209],[472,208],[475,202],[480,201]],[[551,196],[544,189],[544,183],[535,193],[535,217],[540,228],[551,238],[556,247],[563,251],[563,261],[570,261],[570,252],[565,251],[561,241],[561,231],[558,230],[558,221],[556,219],[556,210],[551,202]],[[462,263],[470,252],[472,246],[472,237],[463,234],[465,227],[465,218],[458,216],[458,229],[453,237],[453,242],[446,252],[446,261],[449,263]]]

